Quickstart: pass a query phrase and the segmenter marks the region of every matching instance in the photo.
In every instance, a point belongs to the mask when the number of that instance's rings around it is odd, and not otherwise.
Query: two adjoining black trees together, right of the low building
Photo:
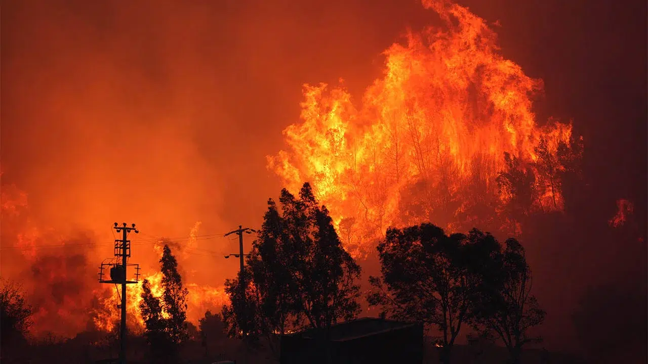
[[[544,312],[530,294],[531,271],[524,248],[509,239],[502,248],[488,233],[446,235],[426,223],[388,230],[378,244],[382,277],[370,277],[371,306],[383,315],[422,321],[441,332],[443,363],[463,324],[494,332],[514,363],[522,346],[536,338],[527,329],[542,323]]]

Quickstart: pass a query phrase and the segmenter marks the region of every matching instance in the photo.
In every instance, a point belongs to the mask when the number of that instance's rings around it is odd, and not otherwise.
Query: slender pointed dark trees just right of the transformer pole
[[[145,323],[145,336],[151,347],[152,361],[178,361],[179,344],[187,337],[187,294],[178,273],[178,262],[165,244],[159,260],[162,272],[162,296],[156,297],[150,282],[142,283],[142,301],[139,309]]]

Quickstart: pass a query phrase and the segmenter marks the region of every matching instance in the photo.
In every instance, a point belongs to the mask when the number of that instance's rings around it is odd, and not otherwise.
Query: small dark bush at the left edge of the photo
[[[13,281],[0,279],[0,343],[3,356],[12,348],[26,342],[32,324],[32,308],[25,303],[22,287]]]

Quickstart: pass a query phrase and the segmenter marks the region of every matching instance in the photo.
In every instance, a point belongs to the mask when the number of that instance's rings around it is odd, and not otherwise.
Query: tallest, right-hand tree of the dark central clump
[[[304,315],[313,328],[328,328],[340,319],[356,317],[360,266],[342,247],[329,211],[318,205],[308,183],[301,188],[299,199],[284,189],[279,201],[295,313]]]

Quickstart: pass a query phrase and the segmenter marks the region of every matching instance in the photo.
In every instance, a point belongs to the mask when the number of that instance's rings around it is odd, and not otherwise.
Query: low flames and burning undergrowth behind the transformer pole
[[[30,333],[35,337],[72,337],[79,332],[110,332],[119,324],[119,286],[98,282],[98,262],[112,250],[110,242],[101,242],[89,232],[60,234],[54,229],[40,229],[29,218],[27,194],[14,185],[1,188],[3,278],[16,280],[27,292],[27,302],[34,315]],[[161,273],[157,260],[168,244],[176,254],[185,286],[189,288],[187,319],[198,323],[207,310],[218,310],[226,297],[222,290],[194,282],[191,249],[196,247],[196,223],[183,242],[159,239],[149,242],[153,262],[144,266],[139,284],[127,290],[127,325],[139,332],[143,321],[139,314],[141,281],[148,279],[152,291],[161,294]],[[135,245],[133,249],[150,249]],[[149,253],[150,254],[150,253]],[[6,264],[11,262],[11,264]],[[130,271],[129,277],[134,274]]]

